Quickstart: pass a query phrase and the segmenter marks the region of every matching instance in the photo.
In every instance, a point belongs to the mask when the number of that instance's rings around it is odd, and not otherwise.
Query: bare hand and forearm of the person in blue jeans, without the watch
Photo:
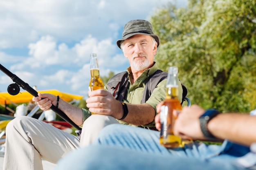
[[[199,117],[204,112],[205,110],[198,105],[192,105],[190,108],[185,107],[180,113],[174,111],[174,116],[177,116],[174,134],[181,136],[183,139],[207,139],[202,134],[199,122]],[[155,122],[156,127],[160,129],[159,114],[156,116]],[[211,119],[207,128],[213,136],[219,139],[228,139],[247,146],[256,142],[255,116],[241,113],[223,113]]]

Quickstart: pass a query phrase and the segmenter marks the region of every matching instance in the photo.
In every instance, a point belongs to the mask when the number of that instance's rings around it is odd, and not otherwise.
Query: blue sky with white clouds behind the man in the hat
[[[38,91],[88,97],[90,54],[100,76],[129,66],[117,47],[124,24],[149,20],[168,2],[187,0],[0,0],[0,64]],[[0,71],[0,92],[13,81]],[[24,91],[21,88],[21,92]]]

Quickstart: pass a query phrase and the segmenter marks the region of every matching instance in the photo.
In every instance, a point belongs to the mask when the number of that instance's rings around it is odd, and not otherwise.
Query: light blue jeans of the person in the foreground
[[[103,128],[92,146],[80,148],[61,160],[57,170],[245,170],[236,159],[249,148],[224,141],[222,146],[194,142],[167,149],[159,132],[121,124]],[[68,164],[72,164],[69,166]]]

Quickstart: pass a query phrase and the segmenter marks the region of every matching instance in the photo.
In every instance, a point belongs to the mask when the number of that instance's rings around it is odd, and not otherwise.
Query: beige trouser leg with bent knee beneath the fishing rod
[[[3,170],[43,170],[79,147],[79,138],[38,119],[16,117],[6,127]]]

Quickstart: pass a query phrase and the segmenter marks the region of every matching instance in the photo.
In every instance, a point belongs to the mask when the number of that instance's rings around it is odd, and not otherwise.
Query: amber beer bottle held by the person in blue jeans
[[[179,85],[177,78],[178,68],[171,66],[168,71],[166,84],[166,98],[160,111],[160,144],[166,148],[176,148],[182,144],[181,137],[173,135],[173,126],[175,117],[173,110],[181,110],[181,104],[178,98]]]

